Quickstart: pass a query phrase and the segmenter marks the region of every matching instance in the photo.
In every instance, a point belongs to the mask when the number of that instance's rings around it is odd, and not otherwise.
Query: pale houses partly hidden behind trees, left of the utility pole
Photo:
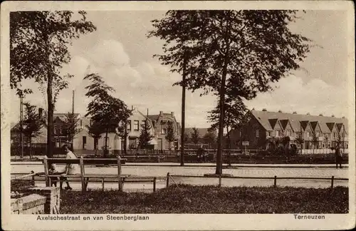
[[[132,108],[132,116],[127,120],[127,149],[135,149],[138,145],[138,140],[140,136],[141,124],[145,123],[145,120],[151,126],[150,133],[154,136],[150,141],[151,147],[155,150],[167,150],[169,148],[169,142],[166,140],[165,136],[167,134],[167,124],[169,121],[172,122],[174,128],[175,141],[171,144],[172,149],[179,148],[180,145],[180,125],[174,117],[174,113],[163,113],[159,112],[157,115],[145,115],[137,110],[137,108]],[[41,114],[41,110],[39,111]],[[74,150],[94,150],[95,146],[101,149],[105,145],[105,134],[99,140],[95,140],[88,134],[88,125],[91,124],[90,117],[81,116],[79,113],[75,113],[75,118],[78,119],[79,133],[75,135],[73,139],[73,149]],[[66,119],[66,113],[54,113],[53,114],[53,126],[54,126],[54,141],[56,147],[61,147],[64,143],[68,143],[66,135],[63,134],[63,123]],[[19,123],[11,128],[11,143],[19,142]],[[43,123],[43,128],[41,128],[41,135],[32,139],[34,146],[46,144],[47,128],[46,123]],[[26,143],[26,140],[25,140]],[[110,150],[122,150],[124,148],[125,141],[122,140],[117,134],[108,134],[108,146]]]

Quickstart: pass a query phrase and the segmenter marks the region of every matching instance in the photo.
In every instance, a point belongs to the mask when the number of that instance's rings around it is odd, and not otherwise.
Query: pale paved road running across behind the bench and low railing
[[[59,170],[63,165],[58,165]],[[244,166],[244,168],[229,168],[224,169],[223,173],[228,173],[233,176],[245,177],[315,177],[315,178],[348,178],[348,168],[281,168],[282,166],[256,168],[251,166]],[[11,165],[11,173],[29,173],[33,170],[35,173],[43,172],[43,165]],[[209,166],[184,166],[172,167],[169,165],[122,165],[122,173],[133,176],[150,176],[150,177],[164,177],[167,173],[171,175],[204,175],[206,173],[214,173],[215,168]],[[116,167],[85,167],[87,174],[116,174]],[[171,183],[189,183],[193,185],[217,185],[217,178],[179,178],[173,177]],[[43,183],[39,183],[42,185]],[[80,189],[79,183],[73,183],[75,189]],[[157,188],[164,188],[165,182],[157,183]],[[257,179],[222,179],[223,186],[271,186],[273,180],[257,180]],[[308,187],[308,188],[328,188],[330,187],[330,180],[277,180],[277,185],[293,186],[293,187]],[[335,180],[335,186],[347,186],[347,181]],[[100,183],[89,183],[88,188],[101,188]],[[105,184],[105,188],[117,188],[117,184]],[[125,185],[126,190],[152,190],[152,183],[135,183]]]

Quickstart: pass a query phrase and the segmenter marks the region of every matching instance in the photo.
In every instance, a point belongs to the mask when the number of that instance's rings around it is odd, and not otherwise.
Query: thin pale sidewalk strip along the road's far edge
[[[11,165],[43,165],[41,161],[33,162],[11,162]],[[122,166],[164,166],[181,167],[180,163],[125,163]],[[342,168],[348,168],[348,164]],[[208,167],[215,168],[215,163],[185,163],[183,167]],[[335,168],[335,164],[243,164],[234,163],[231,166],[223,165],[223,168]]]

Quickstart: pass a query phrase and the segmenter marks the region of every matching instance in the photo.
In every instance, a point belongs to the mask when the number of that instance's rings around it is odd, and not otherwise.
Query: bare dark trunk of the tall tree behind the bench
[[[53,156],[53,96],[52,96],[52,86],[53,86],[53,76],[52,73],[48,71],[47,80],[47,104],[48,104],[48,115],[47,115],[47,157],[51,158]]]

